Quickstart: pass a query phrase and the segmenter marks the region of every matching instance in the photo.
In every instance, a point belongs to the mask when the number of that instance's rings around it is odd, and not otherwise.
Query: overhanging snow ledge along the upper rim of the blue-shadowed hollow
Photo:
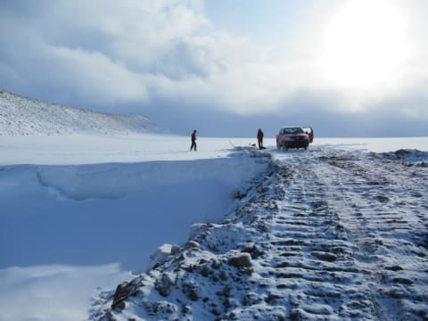
[[[218,182],[228,191],[253,177],[266,164],[251,158],[230,157],[200,161],[150,161],[138,164],[40,166],[42,185],[75,200],[118,198],[129,193],[183,184]]]

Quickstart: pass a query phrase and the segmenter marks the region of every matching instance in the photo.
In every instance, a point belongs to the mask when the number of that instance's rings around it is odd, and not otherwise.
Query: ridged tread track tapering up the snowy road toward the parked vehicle
[[[342,320],[373,315],[370,292],[362,285],[366,272],[356,264],[358,248],[333,206],[337,195],[306,156],[294,161],[295,175],[284,184],[285,197],[271,226],[276,250],[269,253],[280,251],[280,259],[267,258],[276,268],[281,297],[289,298],[288,317]]]

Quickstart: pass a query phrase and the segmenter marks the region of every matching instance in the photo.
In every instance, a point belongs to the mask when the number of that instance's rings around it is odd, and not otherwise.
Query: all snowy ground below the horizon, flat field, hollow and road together
[[[230,141],[0,136],[0,320],[428,316],[428,138]]]

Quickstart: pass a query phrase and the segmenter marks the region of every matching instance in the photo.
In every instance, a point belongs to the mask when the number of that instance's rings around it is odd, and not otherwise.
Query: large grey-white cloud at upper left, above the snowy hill
[[[0,13],[5,87],[67,92],[78,103],[124,103],[148,99],[165,78],[204,78],[218,68],[193,35],[208,25],[197,1],[6,4]]]

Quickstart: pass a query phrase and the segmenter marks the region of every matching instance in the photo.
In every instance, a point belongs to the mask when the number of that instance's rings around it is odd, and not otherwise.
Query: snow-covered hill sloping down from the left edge
[[[141,114],[86,111],[0,89],[0,135],[135,134],[154,130],[152,121]]]

